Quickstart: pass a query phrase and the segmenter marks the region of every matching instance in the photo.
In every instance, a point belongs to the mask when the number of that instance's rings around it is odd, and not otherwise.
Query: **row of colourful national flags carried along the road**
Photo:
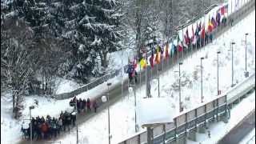
[[[222,6],[217,10],[216,16],[212,16],[212,18],[208,18],[208,27],[207,32],[210,34],[216,27],[220,26],[221,23],[221,17],[222,15],[227,13],[228,5]],[[155,64],[159,64],[162,59],[167,59],[171,55],[174,55],[175,51],[182,52],[184,48],[188,49],[190,44],[196,44],[198,41],[198,38],[205,39],[206,37],[206,28],[205,24],[202,24],[201,22],[197,22],[196,29],[194,31],[194,27],[192,25],[192,35],[189,36],[188,28],[186,28],[186,33],[183,36],[184,38],[181,40],[179,38],[179,35],[177,34],[177,45],[174,45],[174,42],[171,43],[170,50],[169,50],[169,43],[167,42],[164,46],[156,46],[155,51],[156,53],[153,53],[153,48],[151,48],[151,55],[149,58],[150,66],[153,68]],[[132,64],[128,66],[127,73],[134,73],[134,71],[138,68],[138,65],[141,69],[145,69],[147,65],[146,58],[141,58],[139,62],[137,62],[136,58],[134,58],[134,61]]]

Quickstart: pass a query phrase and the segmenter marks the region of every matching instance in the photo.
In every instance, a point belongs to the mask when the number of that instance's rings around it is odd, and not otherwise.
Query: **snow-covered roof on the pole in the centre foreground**
[[[138,125],[154,125],[173,122],[174,111],[168,98],[143,98],[136,106]]]

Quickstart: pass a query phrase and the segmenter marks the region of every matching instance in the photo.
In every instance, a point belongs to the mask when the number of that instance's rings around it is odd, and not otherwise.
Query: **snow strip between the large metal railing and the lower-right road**
[[[230,111],[230,119],[228,123],[217,122],[210,124],[209,130],[211,137],[208,138],[207,134],[197,133],[197,142],[187,140],[189,144],[198,144],[198,142],[204,143],[217,143],[221,140],[224,135],[228,134],[238,122],[241,122],[246,115],[250,114],[255,109],[255,90],[252,94],[248,95],[247,98],[243,99],[237,106]],[[242,113],[241,113],[242,111]],[[255,130],[255,129],[254,129]],[[250,136],[249,136],[250,137]],[[251,137],[250,137],[251,138]]]

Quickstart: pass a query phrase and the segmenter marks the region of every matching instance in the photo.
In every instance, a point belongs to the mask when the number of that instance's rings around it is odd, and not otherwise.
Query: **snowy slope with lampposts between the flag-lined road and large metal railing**
[[[213,97],[217,94],[217,50],[222,54],[219,55],[219,88],[222,91],[227,90],[231,86],[231,51],[230,42],[234,40],[234,82],[241,82],[244,77],[245,70],[245,47],[242,42],[244,34],[249,33],[247,37],[247,70],[251,73],[255,72],[254,54],[254,25],[255,25],[255,11],[250,14],[237,26],[222,35],[213,44],[206,46],[205,49],[188,58],[182,65],[182,102],[185,109],[201,102],[200,89],[200,58],[205,59],[202,62],[203,66],[203,95],[207,98]],[[252,23],[253,22],[253,23]],[[175,111],[178,111],[178,90],[174,90],[174,83],[177,83],[177,76],[174,71],[178,70],[178,66],[174,66],[160,77],[160,96],[172,98],[171,105]],[[197,79],[195,79],[197,78]],[[137,90],[137,100],[145,97],[145,86]],[[154,97],[158,96],[157,80],[153,80],[151,86],[151,94]],[[231,120],[230,120],[231,122]],[[140,128],[142,130],[142,128]],[[126,96],[122,101],[110,106],[110,133],[112,134],[111,142],[120,142],[130,134],[134,134],[134,95]],[[90,118],[79,126],[79,141],[82,143],[107,143],[108,141],[108,127],[107,127],[107,110],[103,110],[97,116]],[[70,143],[76,141],[75,130],[67,134],[65,138],[60,138],[58,141]]]

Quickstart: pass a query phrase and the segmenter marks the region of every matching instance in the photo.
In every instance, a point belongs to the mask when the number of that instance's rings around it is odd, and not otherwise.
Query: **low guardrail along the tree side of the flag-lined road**
[[[214,4],[212,6],[210,6],[207,10],[205,10],[205,14],[207,14],[210,10],[214,9],[214,7],[218,6],[217,4]],[[182,28],[190,25],[192,22],[198,20],[199,17],[197,18],[193,18],[192,20],[186,22],[186,24],[179,26],[177,30],[182,30]],[[148,51],[148,58],[150,58],[151,56],[151,51]],[[124,69],[126,69],[128,67],[128,65],[124,66]],[[54,95],[54,98],[56,99],[66,99],[66,98],[72,98],[74,95],[78,95],[81,94],[82,92],[86,92],[87,90],[91,90],[92,88],[94,88],[95,86],[98,86],[100,84],[102,84],[103,82],[106,82],[107,80],[109,80],[110,78],[114,78],[115,76],[118,76],[118,74],[120,74],[122,68],[118,69],[118,70],[114,70],[111,72],[111,74],[106,74],[100,78],[97,78],[96,80],[94,80],[93,82],[90,82],[88,84],[86,84],[85,86],[81,86],[76,90],[73,90],[71,92],[67,92],[67,93],[62,93],[62,94],[56,94]],[[139,74],[140,72],[138,72]]]

